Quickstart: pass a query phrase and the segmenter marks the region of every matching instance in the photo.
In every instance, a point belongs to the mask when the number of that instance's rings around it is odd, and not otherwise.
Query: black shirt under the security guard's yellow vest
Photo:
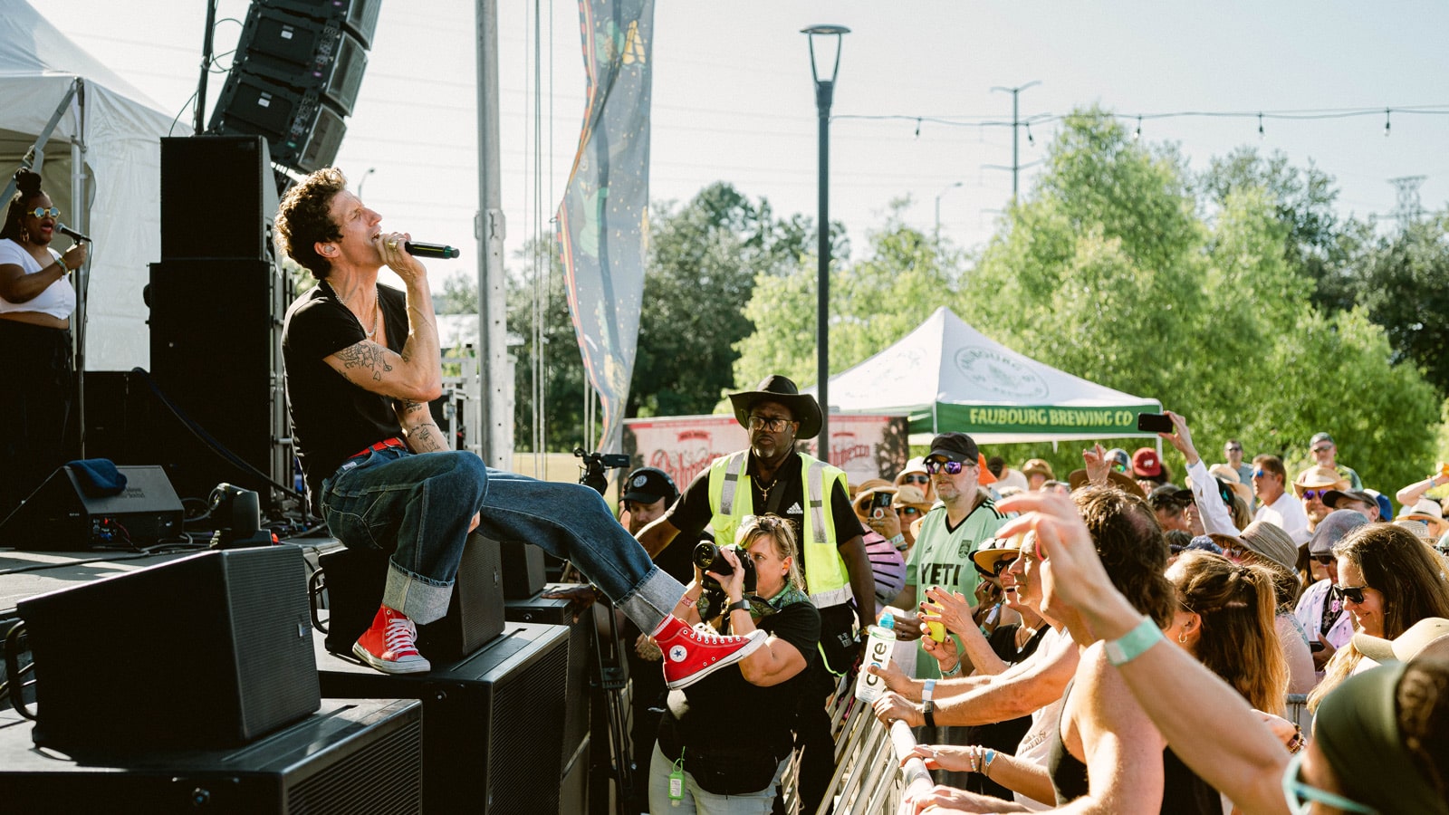
[[[774,513],[780,515],[785,521],[790,521],[790,526],[794,528],[796,542],[801,544],[804,534],[804,518],[809,503],[806,502],[804,481],[800,477],[800,454],[791,452],[790,458],[780,466],[775,476],[774,492],[778,496],[769,496],[759,486],[759,479],[755,477],[758,468],[755,467],[755,454],[751,452],[745,461],[745,473],[749,474],[751,486],[751,508],[753,508],[755,515],[765,515],[771,512],[769,500],[775,497]],[[855,509],[851,508],[851,496],[846,495],[845,487],[840,481],[835,481],[830,486],[830,515],[835,518],[835,542],[840,544],[864,534],[864,526],[861,519],[855,516]],[[714,518],[714,510],[710,509],[710,468],[706,467],[694,476],[690,486],[684,489],[684,495],[680,500],[674,502],[669,512],[665,513],[669,524],[680,531],[680,535],[674,538],[674,542],[665,548],[674,548],[682,544],[688,551],[694,551],[694,544],[698,542],[700,534],[704,526],[709,525],[710,519]],[[727,544],[733,541],[720,541],[720,544]],[[803,547],[801,547],[803,550]],[[662,553],[661,553],[662,554]],[[806,570],[806,558],[800,558],[800,571]],[[809,576],[806,577],[809,580]]]

